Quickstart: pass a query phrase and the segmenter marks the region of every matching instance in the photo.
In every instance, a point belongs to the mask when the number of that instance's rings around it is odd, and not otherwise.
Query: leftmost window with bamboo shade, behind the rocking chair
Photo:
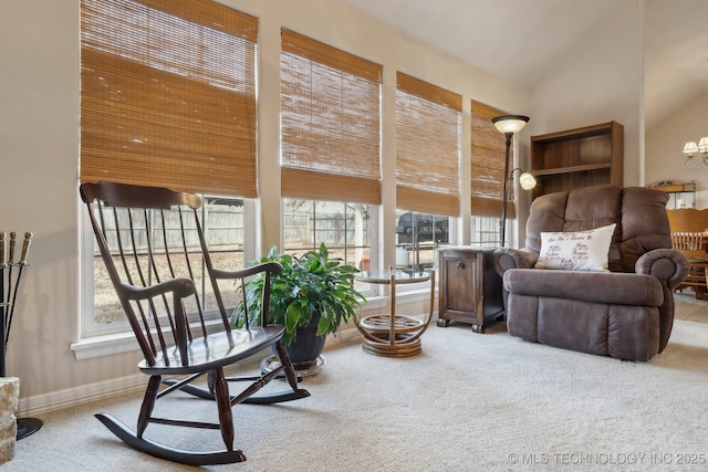
[[[207,198],[205,230],[241,261],[258,195],[257,38],[256,18],[212,1],[82,0],[81,180],[227,196]],[[82,335],[125,329],[93,235],[83,242]]]

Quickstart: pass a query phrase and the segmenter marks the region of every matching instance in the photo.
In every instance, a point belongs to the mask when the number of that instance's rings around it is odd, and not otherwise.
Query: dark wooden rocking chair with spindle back
[[[281,266],[267,263],[235,271],[215,269],[200,221],[201,198],[196,195],[114,182],[82,183],[80,191],[108,276],[143,352],[138,368],[149,376],[136,432],[110,415],[96,417],[119,439],[157,458],[190,465],[244,461],[243,452],[233,448],[231,407],[310,396],[298,388],[299,379],[281,340],[283,326],[268,324],[270,274],[279,273]],[[266,277],[262,324],[235,329],[219,281],[228,281],[233,292],[246,296],[244,279],[259,274]],[[217,306],[212,316],[208,316],[207,303],[197,290],[202,285],[212,290],[205,291]],[[225,376],[226,367],[272,346],[279,368],[256,377]],[[254,395],[283,374],[290,389]],[[195,385],[205,376],[207,387]],[[249,384],[231,396],[228,381],[236,380]],[[154,417],[155,402],[179,390],[216,400],[219,422]],[[226,448],[187,451],[154,442],[144,437],[149,423],[220,429]]]

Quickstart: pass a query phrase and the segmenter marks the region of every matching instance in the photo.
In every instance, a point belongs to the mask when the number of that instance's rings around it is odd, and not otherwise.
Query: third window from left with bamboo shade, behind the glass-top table
[[[396,266],[426,270],[459,216],[462,97],[397,74]]]

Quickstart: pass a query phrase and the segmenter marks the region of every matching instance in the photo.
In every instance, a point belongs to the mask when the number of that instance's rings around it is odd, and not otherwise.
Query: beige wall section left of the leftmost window
[[[64,390],[124,376],[137,360],[77,363],[70,350],[79,334],[79,2],[1,1],[0,51],[0,229],[34,232],[7,371],[21,378],[22,399],[61,402]]]

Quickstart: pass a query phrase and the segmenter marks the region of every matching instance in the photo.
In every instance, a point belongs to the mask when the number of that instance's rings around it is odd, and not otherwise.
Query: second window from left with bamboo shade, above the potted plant
[[[366,269],[381,203],[382,66],[290,30],[281,39],[285,251],[324,242]]]

